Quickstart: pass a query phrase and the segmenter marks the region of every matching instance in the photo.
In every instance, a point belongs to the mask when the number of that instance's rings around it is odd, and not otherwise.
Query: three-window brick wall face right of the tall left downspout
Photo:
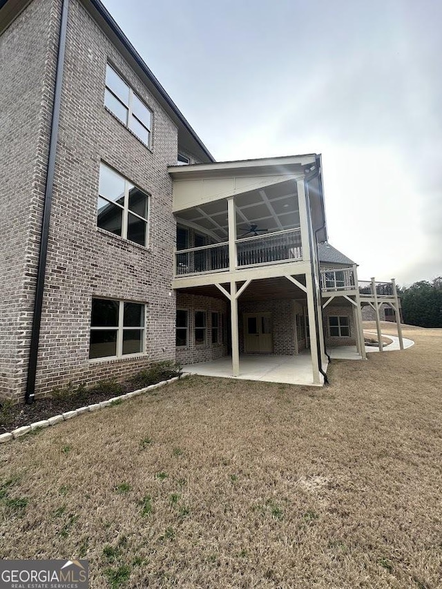
[[[103,106],[110,59],[153,111],[152,149]],[[77,0],[68,15],[38,393],[54,385],[124,376],[146,361],[175,358],[175,296],[171,289],[175,221],[166,166],[177,154],[177,129],[142,81]],[[148,247],[97,229],[100,161],[151,195]],[[147,307],[145,353],[88,359],[93,296]]]

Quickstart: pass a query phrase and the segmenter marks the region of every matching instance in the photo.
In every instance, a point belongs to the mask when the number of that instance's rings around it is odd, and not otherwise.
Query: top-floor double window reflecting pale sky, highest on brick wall
[[[106,66],[104,106],[107,106],[144,144],[151,146],[151,110],[109,64]]]

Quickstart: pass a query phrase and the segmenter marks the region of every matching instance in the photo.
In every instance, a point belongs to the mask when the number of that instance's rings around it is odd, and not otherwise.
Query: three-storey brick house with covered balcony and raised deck
[[[0,398],[365,353],[361,298],[398,299],[327,245],[319,155],[215,162],[99,0],[1,2],[0,62]]]

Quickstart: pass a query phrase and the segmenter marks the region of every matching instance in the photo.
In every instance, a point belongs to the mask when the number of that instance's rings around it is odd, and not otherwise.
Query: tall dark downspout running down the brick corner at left
[[[25,392],[25,400],[26,403],[28,403],[28,405],[34,402],[35,396],[35,378],[37,375],[37,358],[39,353],[41,309],[43,307],[44,278],[46,274],[46,258],[48,255],[50,210],[52,206],[52,191],[54,187],[55,158],[57,156],[57,140],[61,104],[61,84],[63,81],[64,55],[66,51],[66,31],[68,28],[68,7],[69,0],[63,0],[63,5],[61,7],[57,70],[55,73],[54,104],[52,106],[52,122],[50,125],[50,143],[48,152],[48,168],[46,171],[44,209],[43,218],[41,220],[41,238],[39,262],[37,269],[37,283],[35,286],[34,313],[32,315],[32,331],[30,336],[28,379],[26,382]]]

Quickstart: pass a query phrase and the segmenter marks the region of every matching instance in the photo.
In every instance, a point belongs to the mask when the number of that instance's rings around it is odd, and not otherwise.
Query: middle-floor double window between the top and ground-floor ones
[[[99,166],[97,226],[147,245],[148,195],[103,162]]]

